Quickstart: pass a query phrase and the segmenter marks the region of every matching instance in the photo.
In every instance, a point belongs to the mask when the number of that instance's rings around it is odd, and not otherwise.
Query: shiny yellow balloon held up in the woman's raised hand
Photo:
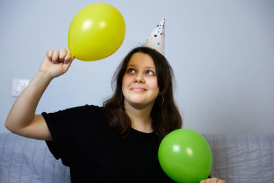
[[[124,38],[125,20],[121,12],[107,3],[92,3],[71,22],[69,51],[78,60],[100,60],[119,49]]]

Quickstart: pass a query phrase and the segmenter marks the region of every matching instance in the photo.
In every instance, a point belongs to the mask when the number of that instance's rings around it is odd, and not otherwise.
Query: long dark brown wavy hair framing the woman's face
[[[166,58],[155,49],[136,47],[125,56],[112,77],[114,94],[103,102],[103,113],[116,132],[123,137],[128,136],[132,124],[125,112],[122,81],[130,58],[137,52],[148,54],[155,64],[159,95],[151,110],[152,129],[162,140],[169,132],[182,128],[182,117],[173,99],[173,69]]]

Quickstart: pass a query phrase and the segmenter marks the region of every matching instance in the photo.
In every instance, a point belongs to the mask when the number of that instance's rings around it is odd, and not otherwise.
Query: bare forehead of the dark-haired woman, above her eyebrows
[[[127,66],[129,65],[155,68],[155,64],[151,56],[149,56],[149,54],[140,52],[134,53],[132,55],[132,57],[129,59]]]

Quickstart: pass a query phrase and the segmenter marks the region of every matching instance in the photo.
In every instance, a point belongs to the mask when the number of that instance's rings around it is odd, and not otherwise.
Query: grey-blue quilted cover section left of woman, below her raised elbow
[[[55,160],[45,141],[0,134],[0,183],[71,182],[69,167]]]

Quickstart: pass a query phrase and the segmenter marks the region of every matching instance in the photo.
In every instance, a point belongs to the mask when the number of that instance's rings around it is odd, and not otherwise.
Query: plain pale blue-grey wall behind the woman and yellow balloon
[[[32,80],[48,49],[67,46],[69,25],[98,1],[0,1],[0,132],[15,97],[12,79]],[[101,105],[126,53],[166,18],[166,58],[184,127],[201,133],[268,133],[274,129],[274,1],[100,1],[123,14],[121,48],[97,62],[74,60],[55,79],[37,113]]]

